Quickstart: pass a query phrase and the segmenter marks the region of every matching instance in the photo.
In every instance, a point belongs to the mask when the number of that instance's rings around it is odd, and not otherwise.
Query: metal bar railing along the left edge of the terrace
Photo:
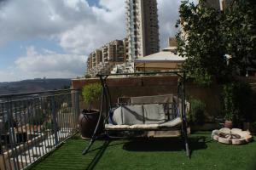
[[[77,132],[79,91],[0,96],[0,170],[20,170]]]

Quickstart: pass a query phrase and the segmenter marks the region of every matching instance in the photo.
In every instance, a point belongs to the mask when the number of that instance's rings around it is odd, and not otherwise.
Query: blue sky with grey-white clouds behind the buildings
[[[158,0],[161,48],[179,3]],[[125,34],[125,0],[0,0],[0,82],[81,77],[91,51]]]

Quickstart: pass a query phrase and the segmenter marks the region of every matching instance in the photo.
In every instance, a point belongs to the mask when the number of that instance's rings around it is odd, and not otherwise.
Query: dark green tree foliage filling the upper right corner
[[[199,84],[225,82],[237,68],[255,68],[254,8],[245,0],[234,2],[225,12],[188,1],[180,6],[176,52],[187,58],[183,69]],[[226,54],[231,55],[229,65]]]

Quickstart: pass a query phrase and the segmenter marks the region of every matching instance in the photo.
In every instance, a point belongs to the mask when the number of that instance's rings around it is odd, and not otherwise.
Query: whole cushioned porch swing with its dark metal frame
[[[152,72],[97,75],[102,82],[103,89],[101,115],[94,134],[90,139],[90,144],[83,151],[83,155],[90,150],[90,146],[96,140],[97,129],[100,127],[103,119],[103,128],[107,138],[112,138],[109,135],[110,132],[179,130],[180,136],[183,137],[186,155],[190,157],[186,122],[186,111],[189,110],[189,103],[184,99],[185,72],[169,71],[154,73],[175,74],[177,77],[180,77],[182,81],[178,83],[177,96],[165,94],[129,98],[121,97],[118,99],[118,103],[113,104],[107,84],[109,76],[150,75]]]

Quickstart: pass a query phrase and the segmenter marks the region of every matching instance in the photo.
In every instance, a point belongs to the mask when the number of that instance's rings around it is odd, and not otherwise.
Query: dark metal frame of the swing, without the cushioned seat
[[[117,74],[97,74],[96,77],[99,77],[101,84],[102,84],[102,104],[101,104],[101,110],[100,110],[100,116],[99,120],[96,124],[96,129],[92,135],[92,138],[90,139],[89,145],[84,149],[83,155],[85,155],[89,150],[92,144],[94,144],[96,140],[96,133],[98,131],[98,128],[100,127],[100,124],[102,123],[102,117],[103,117],[103,110],[104,110],[104,105],[106,108],[106,114],[103,123],[105,124],[108,121],[108,116],[109,116],[109,111],[113,107],[113,102],[111,99],[111,95],[109,92],[108,88],[108,83],[107,79],[110,76],[150,76],[152,74],[155,75],[176,75],[177,77],[180,78],[181,81],[177,83],[177,95],[178,99],[181,99],[182,101],[182,113],[181,113],[181,118],[182,118],[182,126],[181,126],[181,133],[183,137],[183,142],[184,142],[184,147],[186,150],[186,155],[188,158],[190,158],[190,151],[189,151],[189,140],[188,140],[188,132],[187,132],[187,120],[186,120],[186,105],[185,105],[185,79],[186,79],[186,72],[184,71],[165,71],[165,72],[135,72],[135,73],[117,73]],[[104,125],[103,124],[103,125]],[[103,126],[104,128],[104,126]],[[106,139],[111,138],[108,135],[109,130],[104,130],[106,134]],[[124,130],[127,131],[127,130]],[[132,131],[136,131],[136,129],[132,129]],[[140,130],[141,131],[141,130]],[[143,131],[147,131],[144,129]]]

